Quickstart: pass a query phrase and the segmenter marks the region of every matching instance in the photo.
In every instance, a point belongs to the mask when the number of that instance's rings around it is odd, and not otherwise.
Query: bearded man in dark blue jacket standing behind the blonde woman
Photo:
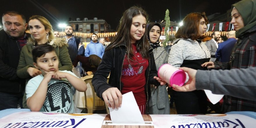
[[[80,43],[80,38],[75,37],[73,35],[73,27],[71,25],[67,25],[65,27],[66,40],[68,44],[68,53],[72,62],[74,62],[77,54],[78,54],[78,45]]]

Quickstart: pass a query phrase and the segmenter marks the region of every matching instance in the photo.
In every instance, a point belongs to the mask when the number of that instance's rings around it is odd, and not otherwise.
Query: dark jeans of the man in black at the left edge
[[[22,107],[23,93],[3,93],[0,92],[0,110],[17,109],[18,104]]]

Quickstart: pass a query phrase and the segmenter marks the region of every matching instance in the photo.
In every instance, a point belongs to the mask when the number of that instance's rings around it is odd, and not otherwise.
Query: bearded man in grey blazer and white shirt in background
[[[220,40],[220,32],[215,31],[212,33],[212,39],[208,40],[205,45],[207,46],[208,50],[211,53],[211,59],[210,61],[216,61],[215,53],[218,49],[218,40]]]

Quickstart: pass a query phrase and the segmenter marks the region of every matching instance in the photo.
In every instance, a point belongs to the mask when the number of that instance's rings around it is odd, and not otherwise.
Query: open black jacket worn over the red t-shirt
[[[160,83],[153,77],[157,76],[156,64],[153,56],[153,49],[150,47],[148,50],[150,54],[149,66],[145,72],[146,84],[145,94],[147,96],[147,102],[150,99],[150,84],[159,86]],[[102,57],[102,62],[99,64],[98,70],[93,75],[92,84],[98,97],[102,98],[102,93],[108,88],[116,87],[120,90],[123,88],[121,83],[122,67],[126,55],[126,46],[121,44],[113,49],[106,51]],[[109,76],[109,83],[107,83],[107,77]],[[132,83],[131,83],[132,84]]]

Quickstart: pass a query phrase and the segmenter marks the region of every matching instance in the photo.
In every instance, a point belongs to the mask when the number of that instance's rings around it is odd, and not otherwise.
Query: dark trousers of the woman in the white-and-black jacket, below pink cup
[[[177,92],[173,90],[173,99],[177,114],[207,113],[207,97],[205,91]]]

